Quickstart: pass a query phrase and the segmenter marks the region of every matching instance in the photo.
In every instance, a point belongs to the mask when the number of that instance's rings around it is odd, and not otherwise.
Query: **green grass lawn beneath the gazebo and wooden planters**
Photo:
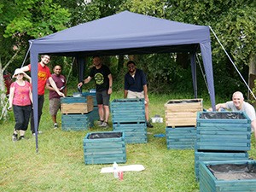
[[[122,98],[123,92],[114,93],[111,100]],[[150,116],[159,114],[164,118],[164,104],[171,99],[193,98],[193,96],[150,95]],[[205,99],[205,98],[203,98]],[[204,108],[210,102],[204,100]],[[119,181],[112,173],[100,173],[102,167],[112,165],[85,165],[83,138],[92,131],[54,130],[49,115],[49,100],[45,96],[44,113],[38,135],[38,153],[35,137],[26,132],[26,139],[13,143],[11,136],[15,121],[11,119],[0,125],[0,191],[199,191],[195,180],[194,150],[168,150],[165,137],[154,134],[165,133],[165,123],[154,124],[148,129],[148,143],[126,144],[124,165],[141,164],[143,172],[124,172]],[[61,122],[61,114],[58,115]],[[111,124],[110,124],[111,125]],[[30,128],[30,127],[29,127]],[[255,139],[252,139],[250,157],[256,158]],[[120,165],[121,166],[121,165]]]

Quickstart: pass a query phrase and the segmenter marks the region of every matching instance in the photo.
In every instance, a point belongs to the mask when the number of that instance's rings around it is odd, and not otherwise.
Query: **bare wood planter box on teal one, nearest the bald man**
[[[179,99],[166,102],[166,126],[196,125],[196,113],[203,110],[202,99]]]

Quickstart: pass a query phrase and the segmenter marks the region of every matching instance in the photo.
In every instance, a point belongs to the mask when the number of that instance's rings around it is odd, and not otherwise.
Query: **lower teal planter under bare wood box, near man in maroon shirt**
[[[83,131],[92,126],[89,113],[86,114],[61,114],[62,131]]]

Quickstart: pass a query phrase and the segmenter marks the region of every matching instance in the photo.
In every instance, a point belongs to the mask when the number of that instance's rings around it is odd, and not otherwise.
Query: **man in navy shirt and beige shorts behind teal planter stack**
[[[134,61],[127,62],[128,73],[125,74],[125,98],[144,98],[145,99],[145,119],[147,127],[154,126],[149,122],[149,100],[146,74],[138,69]]]

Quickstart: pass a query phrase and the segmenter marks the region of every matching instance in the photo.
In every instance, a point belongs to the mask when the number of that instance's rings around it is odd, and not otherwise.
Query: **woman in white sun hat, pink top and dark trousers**
[[[29,123],[30,113],[32,111],[32,87],[31,84],[23,78],[31,79],[20,68],[15,70],[13,78],[15,82],[10,85],[9,90],[9,110],[13,108],[15,114],[15,131],[13,142],[24,139],[25,132]]]

